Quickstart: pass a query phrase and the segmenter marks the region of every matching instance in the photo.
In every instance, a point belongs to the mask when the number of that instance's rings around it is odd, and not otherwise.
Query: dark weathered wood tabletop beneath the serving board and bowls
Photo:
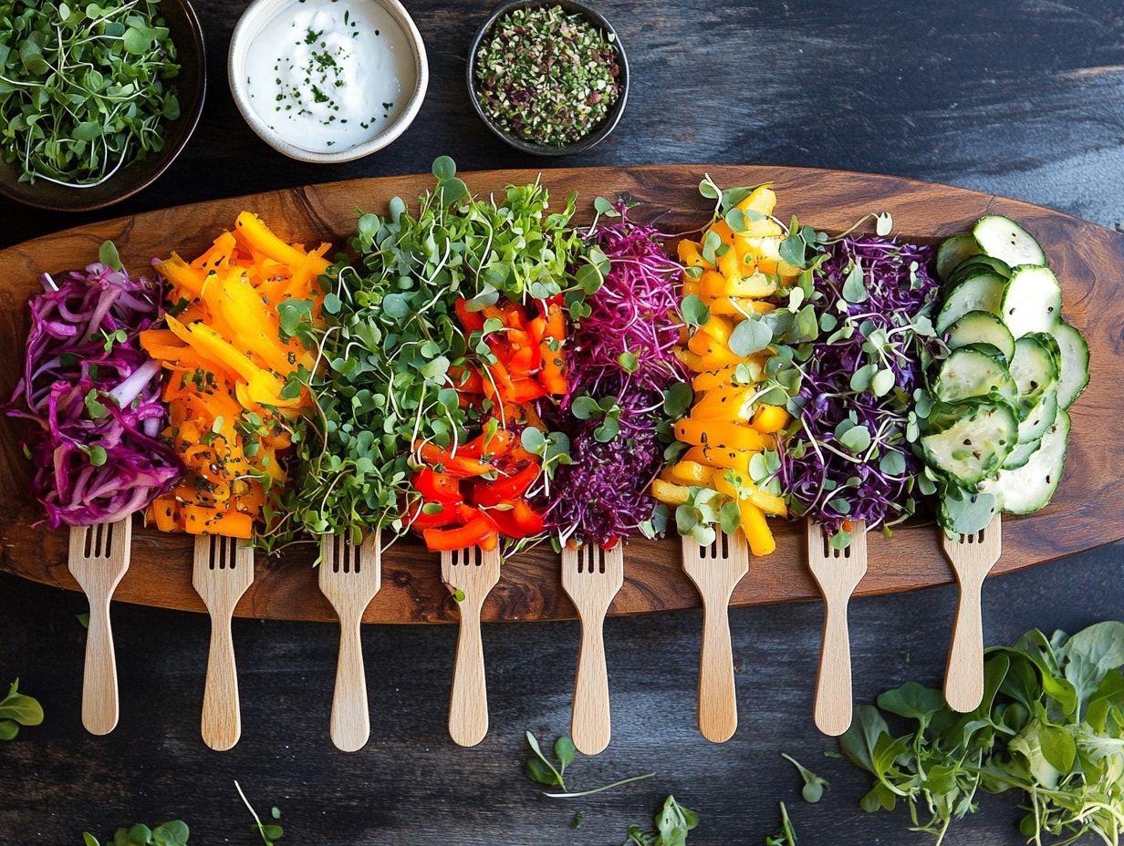
[[[879,171],[1043,203],[1107,226],[1124,192],[1124,18],[1081,0],[863,3],[599,3],[628,49],[633,90],[617,133],[565,164],[753,162]],[[408,2],[432,81],[422,115],[391,148],[350,165],[302,165],[243,124],[226,87],[226,47],[243,3],[198,0],[210,53],[202,122],[181,160],[111,217],[214,197],[350,176],[426,171],[447,153],[464,169],[550,166],[495,139],[472,113],[464,52],[488,4]],[[383,198],[372,198],[372,204]],[[92,217],[92,216],[91,216]],[[0,245],[84,218],[0,202]],[[1060,495],[1064,495],[1064,491]],[[1105,503],[1118,508],[1120,503]],[[986,586],[989,642],[1025,629],[1076,630],[1124,613],[1121,547]],[[769,566],[768,561],[758,566]],[[860,600],[852,610],[855,695],[913,679],[939,684],[951,589]],[[328,739],[336,631],[235,622],[244,734],[226,754],[199,739],[207,653],[201,616],[115,608],[121,722],[105,738],[79,721],[82,598],[0,577],[0,682],[19,676],[46,722],[0,744],[0,844],[81,842],[118,825],[179,817],[193,843],[253,844],[233,781],[260,811],[283,811],[285,844],[615,844],[674,793],[697,809],[691,844],[762,843],[787,802],[800,843],[925,844],[908,817],[858,808],[865,776],[823,752],[810,720],[821,609],[732,613],[742,725],[714,746],[695,728],[700,617],[615,619],[606,631],[614,739],[571,770],[573,788],[656,771],[586,800],[541,797],[523,775],[523,731],[566,730],[573,624],[484,631],[492,730],[460,749],[445,733],[455,631],[366,627],[372,739]],[[832,781],[799,798],[787,752]],[[604,767],[605,772],[600,770]],[[1021,844],[1012,799],[985,797],[950,844]],[[577,830],[574,811],[583,813]]]

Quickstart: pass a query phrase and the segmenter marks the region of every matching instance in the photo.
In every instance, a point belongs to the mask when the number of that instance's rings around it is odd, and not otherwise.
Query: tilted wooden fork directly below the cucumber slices
[[[960,584],[957,621],[944,671],[944,699],[957,711],[973,711],[984,699],[984,620],[980,593],[984,580],[1003,551],[999,515],[975,535],[950,538],[941,533],[941,545]]]

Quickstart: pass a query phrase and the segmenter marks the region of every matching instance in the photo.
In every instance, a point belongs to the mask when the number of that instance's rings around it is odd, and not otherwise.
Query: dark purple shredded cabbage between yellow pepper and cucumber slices
[[[833,535],[844,529],[845,538],[849,520],[865,520],[873,529],[892,526],[914,511],[921,463],[906,443],[906,430],[914,391],[923,388],[921,354],[932,334],[926,331],[927,315],[939,283],[928,273],[932,249],[926,246],[863,235],[845,237],[826,251],[813,281],[824,294],[815,300],[822,321],[824,315],[832,318],[827,329],[821,322],[810,356],[800,365],[801,428],[780,455],[779,479],[796,515],[810,516]],[[864,274],[861,301],[854,301],[861,293],[844,291],[855,263]],[[845,316],[837,310],[841,302]],[[840,337],[846,324],[854,333]],[[864,349],[878,330],[894,339],[883,351],[885,361]],[[894,373],[894,389],[881,397],[852,382],[871,361]],[[854,422],[870,433],[869,447],[855,449],[861,438],[841,438]],[[860,455],[867,460],[855,461]]]

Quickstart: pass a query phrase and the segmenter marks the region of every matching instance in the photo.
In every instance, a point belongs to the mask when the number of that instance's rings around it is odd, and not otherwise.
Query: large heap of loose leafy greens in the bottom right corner
[[[944,839],[978,809],[978,792],[1019,791],[1019,830],[1075,843],[1116,843],[1124,831],[1124,622],[1100,622],[1072,637],[1027,631],[992,647],[984,698],[958,713],[940,691],[908,682],[859,706],[840,749],[874,776],[865,811],[903,801],[914,830]],[[886,715],[905,720],[891,733]]]

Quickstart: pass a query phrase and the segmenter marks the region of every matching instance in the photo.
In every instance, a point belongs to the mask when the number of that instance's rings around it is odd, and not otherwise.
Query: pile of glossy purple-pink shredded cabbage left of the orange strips
[[[163,281],[100,263],[40,281],[10,403],[22,408],[8,411],[40,427],[25,447],[31,493],[53,529],[118,520],[165,492],[182,466],[160,439],[160,364],[137,339],[162,318]]]

